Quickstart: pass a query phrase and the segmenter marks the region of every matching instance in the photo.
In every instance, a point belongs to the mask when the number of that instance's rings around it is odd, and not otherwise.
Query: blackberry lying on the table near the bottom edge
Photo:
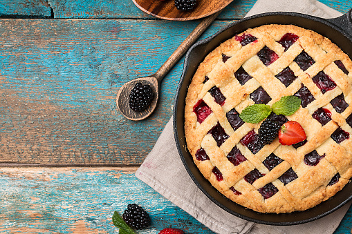
[[[122,214],[122,219],[131,228],[143,229],[150,225],[150,217],[148,213],[143,210],[138,204],[129,204],[127,210],[124,210]]]

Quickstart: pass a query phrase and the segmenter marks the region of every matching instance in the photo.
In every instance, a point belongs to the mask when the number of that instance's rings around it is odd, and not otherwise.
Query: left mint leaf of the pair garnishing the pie
[[[268,117],[271,113],[271,108],[265,104],[254,104],[247,106],[239,117],[250,124],[258,124],[260,121]]]

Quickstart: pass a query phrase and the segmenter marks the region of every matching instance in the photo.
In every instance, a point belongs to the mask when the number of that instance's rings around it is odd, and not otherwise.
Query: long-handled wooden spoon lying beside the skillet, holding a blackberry
[[[183,43],[178,46],[178,48],[172,53],[172,55],[165,61],[163,66],[159,68],[153,75],[150,75],[149,77],[140,77],[133,79],[126,84],[124,84],[120,90],[118,90],[118,94],[116,96],[116,104],[118,106],[118,109],[126,117],[127,119],[131,120],[142,120],[147,118],[151,113],[154,111],[156,108],[156,104],[158,102],[159,98],[159,88],[160,88],[160,83],[167,75],[167,72],[176,64],[178,59],[182,57],[185,52],[193,45],[193,43],[198,39],[199,36],[207,29],[208,26],[214,21],[214,19],[219,15],[220,12],[217,12],[216,14],[211,15],[210,17],[207,17],[201,21],[201,23],[194,28],[194,30],[191,32],[191,34],[183,41]],[[131,110],[129,108],[129,93],[131,92],[132,88],[136,85],[136,83],[142,83],[144,84],[149,84],[151,86],[152,90],[154,91],[154,99],[151,102],[150,106],[147,108],[147,110],[143,110],[142,112],[136,112]]]

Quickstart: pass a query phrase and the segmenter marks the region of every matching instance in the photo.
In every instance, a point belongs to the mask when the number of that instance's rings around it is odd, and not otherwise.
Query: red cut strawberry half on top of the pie
[[[290,146],[302,142],[307,138],[301,124],[296,121],[287,121],[279,130],[279,142]]]

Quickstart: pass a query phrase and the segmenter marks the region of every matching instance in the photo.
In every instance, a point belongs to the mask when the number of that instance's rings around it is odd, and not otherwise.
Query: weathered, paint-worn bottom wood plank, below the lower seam
[[[0,233],[118,233],[111,217],[140,204],[151,226],[213,233],[134,176],[136,168],[0,168]]]

